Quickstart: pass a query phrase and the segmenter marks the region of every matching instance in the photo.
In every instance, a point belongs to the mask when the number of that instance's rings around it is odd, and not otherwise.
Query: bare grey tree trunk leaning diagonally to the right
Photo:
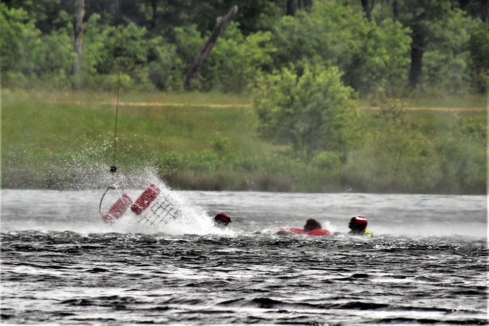
[[[185,81],[185,89],[189,90],[190,86],[194,83],[200,73],[200,67],[204,63],[205,58],[209,55],[212,48],[216,45],[217,40],[221,36],[224,29],[231,23],[231,21],[236,17],[236,13],[238,12],[238,6],[234,6],[229,10],[229,12],[222,17],[219,22],[214,27],[211,35],[205,41],[203,47],[200,49],[199,54],[194,60],[192,67],[190,68],[187,74],[187,80]]]

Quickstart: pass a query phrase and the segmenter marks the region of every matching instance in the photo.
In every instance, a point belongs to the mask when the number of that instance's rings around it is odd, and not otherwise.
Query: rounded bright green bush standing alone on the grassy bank
[[[356,102],[353,89],[340,78],[336,67],[323,66],[306,66],[302,75],[292,67],[261,76],[253,96],[261,135],[291,144],[307,159],[321,151],[343,151]]]

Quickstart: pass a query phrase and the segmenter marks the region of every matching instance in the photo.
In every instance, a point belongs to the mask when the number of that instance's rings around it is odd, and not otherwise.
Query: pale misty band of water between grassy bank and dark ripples
[[[133,201],[148,185],[147,181],[137,182],[139,189],[126,189]],[[2,231],[219,233],[211,217],[224,211],[232,216],[230,230],[236,234],[302,227],[308,218],[317,219],[332,232],[348,233],[349,219],[363,215],[375,235],[487,238],[485,196],[172,191],[162,183],[158,186],[178,203],[183,215],[156,229],[141,226],[136,232],[139,218],[130,210],[117,223],[104,223],[99,212],[104,189],[3,189]],[[102,211],[105,213],[117,198],[111,190]]]

